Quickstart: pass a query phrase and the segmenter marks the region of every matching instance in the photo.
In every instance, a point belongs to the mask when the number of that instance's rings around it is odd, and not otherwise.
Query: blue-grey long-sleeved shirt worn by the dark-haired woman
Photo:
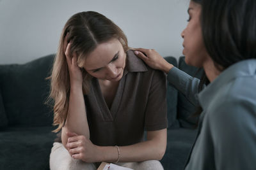
[[[185,169],[256,169],[256,60],[233,64],[199,94],[199,80],[175,67],[168,81],[203,108]]]

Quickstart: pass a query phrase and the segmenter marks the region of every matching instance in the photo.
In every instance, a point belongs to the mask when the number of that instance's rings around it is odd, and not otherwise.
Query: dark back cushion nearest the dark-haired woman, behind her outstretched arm
[[[188,66],[185,62],[185,57],[179,58],[179,69],[196,78],[201,78],[202,76],[202,69]],[[178,93],[177,110],[181,127],[195,127],[198,117],[193,117],[193,113],[195,113],[196,109],[197,107],[189,103],[188,99],[181,92]]]

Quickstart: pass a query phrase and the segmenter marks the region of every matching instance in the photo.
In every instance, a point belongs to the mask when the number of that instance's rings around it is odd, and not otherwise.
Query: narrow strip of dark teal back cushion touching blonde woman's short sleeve
[[[174,57],[164,57],[166,61],[177,67],[177,60]],[[168,81],[167,81],[168,82]],[[167,83],[167,117],[168,128],[179,127],[179,121],[177,120],[177,99],[178,91],[170,84]]]

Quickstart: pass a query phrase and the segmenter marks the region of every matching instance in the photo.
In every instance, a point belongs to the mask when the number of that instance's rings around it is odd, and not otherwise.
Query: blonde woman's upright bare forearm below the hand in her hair
[[[61,133],[61,139],[64,146],[67,144],[67,132],[75,132],[76,134],[83,135],[90,139],[90,131],[81,86],[77,87],[72,85],[70,88],[68,114]]]

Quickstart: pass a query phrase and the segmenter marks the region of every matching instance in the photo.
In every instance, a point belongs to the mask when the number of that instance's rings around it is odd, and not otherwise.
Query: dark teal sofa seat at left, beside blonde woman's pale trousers
[[[52,127],[0,129],[0,169],[49,169],[49,155],[56,135]]]

